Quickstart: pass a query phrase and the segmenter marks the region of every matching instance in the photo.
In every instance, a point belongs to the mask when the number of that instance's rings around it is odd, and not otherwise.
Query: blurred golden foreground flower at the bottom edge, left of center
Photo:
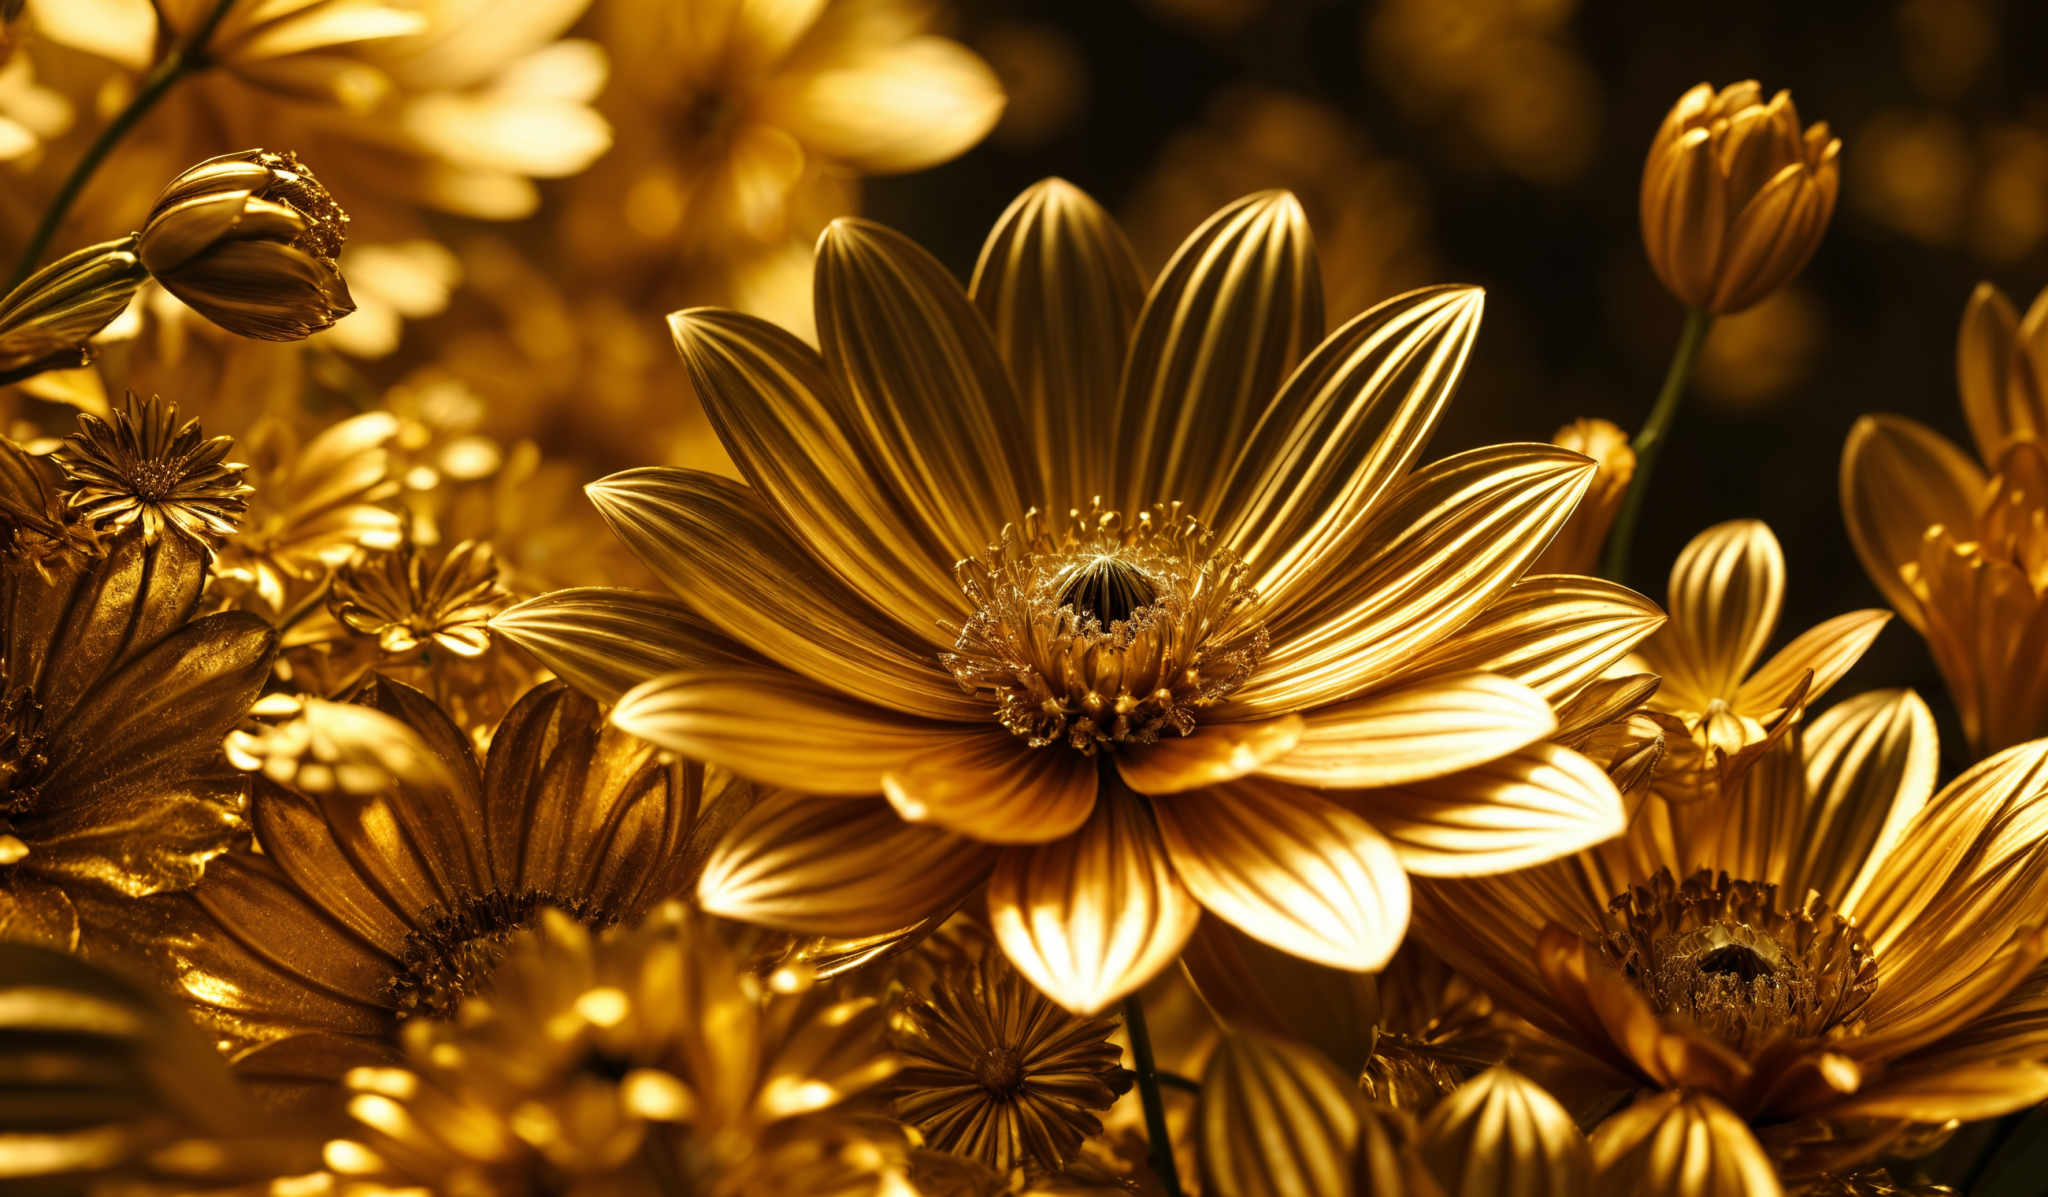
[[[348,1074],[356,1138],[328,1166],[440,1193],[877,1193],[891,1144],[848,1115],[897,1068],[883,1031],[874,998],[760,984],[680,904],[606,933],[547,910],[489,996],[406,1027],[406,1068]]]

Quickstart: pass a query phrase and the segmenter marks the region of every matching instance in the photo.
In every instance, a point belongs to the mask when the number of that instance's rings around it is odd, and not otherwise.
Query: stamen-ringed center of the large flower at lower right
[[[1776,885],[1659,871],[1608,906],[1602,949],[1663,1015],[1739,1051],[1821,1039],[1855,1023],[1878,963],[1817,896],[1780,904]]]

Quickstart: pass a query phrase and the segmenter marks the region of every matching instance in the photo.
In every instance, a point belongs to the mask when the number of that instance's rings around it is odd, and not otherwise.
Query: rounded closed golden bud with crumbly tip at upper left
[[[356,309],[336,256],[348,213],[291,154],[246,150],[170,180],[141,230],[141,264],[207,320],[301,340]]]

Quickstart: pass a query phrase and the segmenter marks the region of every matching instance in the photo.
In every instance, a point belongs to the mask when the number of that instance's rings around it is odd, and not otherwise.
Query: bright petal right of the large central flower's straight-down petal
[[[1407,931],[1409,885],[1386,840],[1305,789],[1235,781],[1153,803],[1196,902],[1298,957],[1372,972]]]

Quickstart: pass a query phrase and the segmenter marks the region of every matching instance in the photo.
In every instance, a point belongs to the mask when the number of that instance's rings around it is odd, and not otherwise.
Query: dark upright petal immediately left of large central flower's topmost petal
[[[1036,480],[995,342],[961,285],[911,240],[836,219],[817,240],[817,336],[840,414],[881,486],[940,558],[979,553]]]

